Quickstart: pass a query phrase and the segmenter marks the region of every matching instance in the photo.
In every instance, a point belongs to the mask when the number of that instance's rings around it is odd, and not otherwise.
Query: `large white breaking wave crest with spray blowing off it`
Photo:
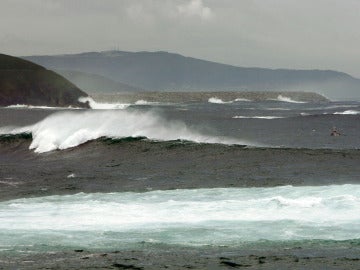
[[[78,146],[101,137],[146,137],[151,140],[187,140],[197,143],[256,145],[232,138],[202,134],[183,122],[167,121],[158,114],[126,110],[57,112],[22,128],[2,128],[0,134],[30,133],[30,149],[42,153]]]

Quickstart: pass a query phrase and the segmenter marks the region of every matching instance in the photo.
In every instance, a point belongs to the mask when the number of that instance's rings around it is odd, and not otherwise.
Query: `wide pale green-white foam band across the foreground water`
[[[53,237],[60,241],[53,241],[56,244],[83,241],[93,247],[149,239],[204,245],[260,239],[359,239],[360,185],[18,199],[0,202],[0,220],[2,245],[27,244],[27,237],[35,243]],[[66,237],[59,239],[59,234]]]

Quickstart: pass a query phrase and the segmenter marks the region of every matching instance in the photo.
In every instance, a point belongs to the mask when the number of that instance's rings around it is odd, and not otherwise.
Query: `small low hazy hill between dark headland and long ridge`
[[[114,94],[114,93],[133,93],[144,91],[141,88],[113,81],[101,75],[84,73],[72,70],[55,70],[88,94]]]

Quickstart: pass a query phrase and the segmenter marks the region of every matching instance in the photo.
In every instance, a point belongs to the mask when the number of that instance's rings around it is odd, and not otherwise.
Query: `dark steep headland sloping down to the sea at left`
[[[87,96],[75,85],[44,67],[0,54],[0,106],[26,104],[38,106],[80,106]]]

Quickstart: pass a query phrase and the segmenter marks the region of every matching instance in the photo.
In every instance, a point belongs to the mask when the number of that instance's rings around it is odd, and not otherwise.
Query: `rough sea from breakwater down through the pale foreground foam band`
[[[0,108],[0,254],[359,247],[360,102],[88,101]]]

